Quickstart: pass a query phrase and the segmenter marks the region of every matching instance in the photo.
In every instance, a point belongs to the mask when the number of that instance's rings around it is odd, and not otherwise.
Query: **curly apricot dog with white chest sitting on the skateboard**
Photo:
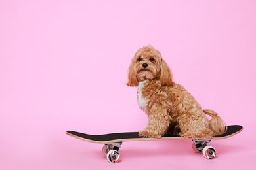
[[[200,104],[173,75],[153,46],[137,50],[128,71],[127,86],[138,86],[139,107],[148,115],[140,137],[161,138],[173,133],[185,138],[211,139],[226,132],[226,124],[213,110]],[[206,115],[211,116],[211,120]]]

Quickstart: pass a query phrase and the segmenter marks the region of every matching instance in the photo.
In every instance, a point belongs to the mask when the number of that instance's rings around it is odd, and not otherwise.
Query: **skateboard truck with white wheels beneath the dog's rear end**
[[[215,158],[216,150],[212,146],[207,146],[211,140],[207,139],[192,139],[192,148],[195,152],[202,152],[203,156],[207,159]]]

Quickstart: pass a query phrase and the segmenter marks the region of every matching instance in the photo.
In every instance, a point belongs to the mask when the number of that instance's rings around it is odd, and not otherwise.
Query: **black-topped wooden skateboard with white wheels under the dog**
[[[215,136],[211,139],[192,139],[192,149],[195,152],[202,152],[203,156],[207,159],[215,158],[216,150],[212,146],[207,146],[207,143],[211,140],[226,139],[232,137],[240,131],[243,127],[240,125],[227,126],[226,133],[223,135]],[[89,143],[104,144],[102,153],[106,156],[110,163],[117,163],[120,159],[119,148],[123,142],[126,141],[152,141],[152,140],[171,140],[171,139],[187,139],[180,137],[179,135],[166,134],[163,137],[156,139],[150,137],[139,137],[138,132],[123,132],[123,133],[110,133],[104,135],[89,135],[85,133],[79,133],[77,131],[66,131],[67,135],[87,141]]]

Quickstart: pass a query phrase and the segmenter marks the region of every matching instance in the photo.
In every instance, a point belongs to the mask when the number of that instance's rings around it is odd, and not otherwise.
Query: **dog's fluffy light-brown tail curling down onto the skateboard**
[[[209,109],[204,109],[203,112],[206,115],[211,116],[211,119],[209,120],[209,126],[215,136],[222,135],[223,133],[226,132],[227,130],[226,124],[221,119],[221,117],[218,116],[217,112]]]

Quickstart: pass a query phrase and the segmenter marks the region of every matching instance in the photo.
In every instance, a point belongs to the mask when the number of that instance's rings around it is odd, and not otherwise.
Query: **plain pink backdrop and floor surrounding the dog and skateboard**
[[[255,1],[0,1],[0,169],[254,169]],[[135,51],[152,44],[175,82],[242,133],[213,141],[102,145],[65,134],[139,131],[147,117],[129,88]],[[254,126],[254,127],[253,127]]]

